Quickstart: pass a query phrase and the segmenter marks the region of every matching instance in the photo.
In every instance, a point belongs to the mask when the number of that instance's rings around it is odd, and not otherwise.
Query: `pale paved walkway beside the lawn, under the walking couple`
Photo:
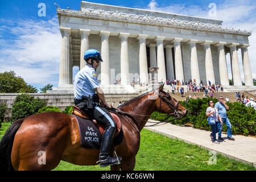
[[[152,119],[148,121],[156,122]],[[152,125],[152,123],[147,123]],[[165,135],[166,137],[183,140],[185,143],[196,144],[199,147],[210,151],[216,151],[217,154],[224,155],[230,159],[253,165],[256,168],[256,138],[245,137],[242,135],[233,135],[236,140],[228,140],[225,133],[222,133],[224,141],[218,140],[220,144],[210,141],[210,131],[195,129],[189,126],[179,126],[167,123],[162,126],[144,127],[144,129],[154,131]]]

